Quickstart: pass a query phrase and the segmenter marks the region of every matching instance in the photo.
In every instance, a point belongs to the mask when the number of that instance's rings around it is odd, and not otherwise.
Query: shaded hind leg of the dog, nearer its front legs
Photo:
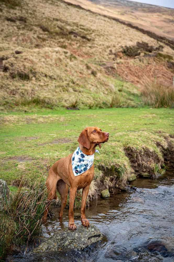
[[[57,182],[57,191],[61,196],[61,208],[59,212],[59,218],[62,219],[64,208],[66,207],[68,185],[61,179]]]

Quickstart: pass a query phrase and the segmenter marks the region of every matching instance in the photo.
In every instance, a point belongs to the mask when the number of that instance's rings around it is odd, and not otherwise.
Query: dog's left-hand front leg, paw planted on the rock
[[[74,223],[74,201],[77,188],[70,187],[70,206],[69,206],[69,225],[68,228],[73,231],[76,230],[76,225]]]

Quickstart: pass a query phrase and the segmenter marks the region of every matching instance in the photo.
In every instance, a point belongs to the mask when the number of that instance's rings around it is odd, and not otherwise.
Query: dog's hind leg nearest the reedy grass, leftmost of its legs
[[[44,222],[46,222],[51,201],[53,199],[57,199],[56,187],[57,187],[57,182],[60,179],[61,178],[59,177],[59,175],[55,174],[55,172],[51,168],[50,172],[49,172],[49,175],[47,177],[47,180],[46,180],[46,187],[47,187],[47,191],[48,191],[48,197],[47,197],[47,204],[46,204],[46,208],[45,208],[45,211],[44,211],[44,217],[43,217],[43,221]]]

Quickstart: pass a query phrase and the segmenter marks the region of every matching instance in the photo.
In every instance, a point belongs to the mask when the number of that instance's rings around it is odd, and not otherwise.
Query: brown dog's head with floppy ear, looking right
[[[108,139],[108,132],[102,132],[102,130],[96,126],[89,126],[81,132],[78,142],[88,149],[91,144],[98,144],[99,148],[101,148],[101,143],[107,142]]]

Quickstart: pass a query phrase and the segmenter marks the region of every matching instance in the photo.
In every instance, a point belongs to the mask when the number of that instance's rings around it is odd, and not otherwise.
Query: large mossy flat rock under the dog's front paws
[[[45,242],[33,250],[34,253],[50,252],[50,251],[69,251],[81,250],[99,240],[103,235],[99,229],[90,225],[89,228],[84,226],[77,227],[77,230],[60,229],[54,233]]]

